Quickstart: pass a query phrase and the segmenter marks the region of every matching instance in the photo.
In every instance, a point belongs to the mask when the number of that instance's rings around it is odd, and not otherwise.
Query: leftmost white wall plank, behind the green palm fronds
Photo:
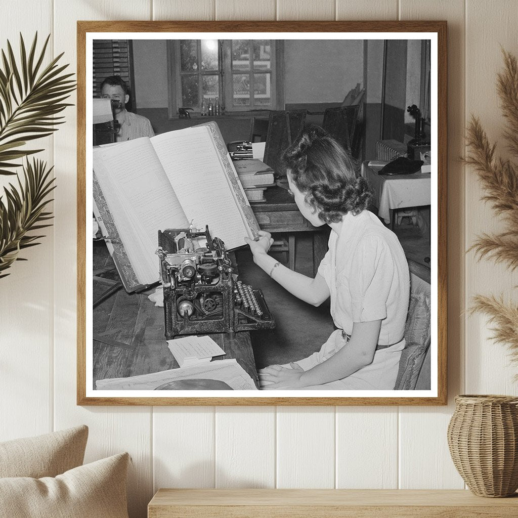
[[[5,52],[9,39],[18,59],[20,32],[26,48],[30,49],[36,31],[41,50],[45,38],[52,32],[52,1],[34,5],[30,0],[23,0],[17,4],[17,9],[3,17],[0,25],[0,46]],[[47,48],[46,64],[51,57],[52,39]],[[52,138],[27,145],[45,149],[34,157],[46,161],[49,166],[52,165]],[[12,171],[23,178],[21,167]],[[0,197],[4,201],[4,185],[9,183],[17,185],[16,177],[0,176]],[[0,419],[0,441],[52,430],[54,230],[45,228],[41,233],[46,234],[38,240],[41,244],[20,253],[27,261],[16,262],[7,270],[9,275],[0,279],[0,415],[9,416],[9,419]],[[32,401],[34,410],[27,412],[20,400]]]

